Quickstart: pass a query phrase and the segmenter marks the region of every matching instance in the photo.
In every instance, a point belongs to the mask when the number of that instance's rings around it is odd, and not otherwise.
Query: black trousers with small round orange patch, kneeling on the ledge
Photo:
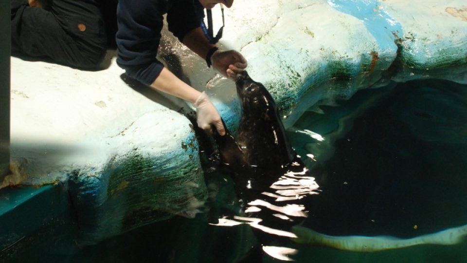
[[[13,56],[95,69],[115,46],[117,0],[11,0]]]

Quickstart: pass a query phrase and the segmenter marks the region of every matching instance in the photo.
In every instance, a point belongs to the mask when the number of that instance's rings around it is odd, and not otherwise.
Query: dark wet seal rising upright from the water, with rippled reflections
[[[242,106],[236,136],[229,131],[215,134],[245,215],[235,221],[294,238],[289,230],[307,217],[309,198],[305,197],[316,194],[318,185],[290,146],[268,90],[246,72],[235,84]]]

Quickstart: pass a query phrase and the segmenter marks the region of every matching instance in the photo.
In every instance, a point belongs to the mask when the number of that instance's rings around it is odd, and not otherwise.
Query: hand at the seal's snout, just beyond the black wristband
[[[211,56],[211,62],[215,70],[229,78],[235,78],[248,65],[245,57],[235,50],[223,51],[219,49]]]

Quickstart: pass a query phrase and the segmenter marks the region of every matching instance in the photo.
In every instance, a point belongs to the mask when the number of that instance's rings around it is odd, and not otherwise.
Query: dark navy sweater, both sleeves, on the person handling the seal
[[[199,27],[202,6],[198,0],[119,0],[116,35],[117,64],[126,75],[150,85],[163,65],[156,59],[162,15],[167,14],[169,31],[180,41]]]

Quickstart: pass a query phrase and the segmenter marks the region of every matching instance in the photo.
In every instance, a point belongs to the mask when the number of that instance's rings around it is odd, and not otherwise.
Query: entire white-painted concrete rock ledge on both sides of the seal
[[[465,0],[235,0],[225,13],[219,44],[246,56],[249,74],[276,99],[286,127],[318,103],[391,79],[467,83]],[[67,182],[91,242],[171,213],[193,215],[207,192],[195,133],[174,111],[191,106],[131,88],[114,54],[95,72],[12,57],[18,173],[0,187]],[[232,80],[207,69],[170,33],[160,58],[207,91],[234,129],[240,112]]]

